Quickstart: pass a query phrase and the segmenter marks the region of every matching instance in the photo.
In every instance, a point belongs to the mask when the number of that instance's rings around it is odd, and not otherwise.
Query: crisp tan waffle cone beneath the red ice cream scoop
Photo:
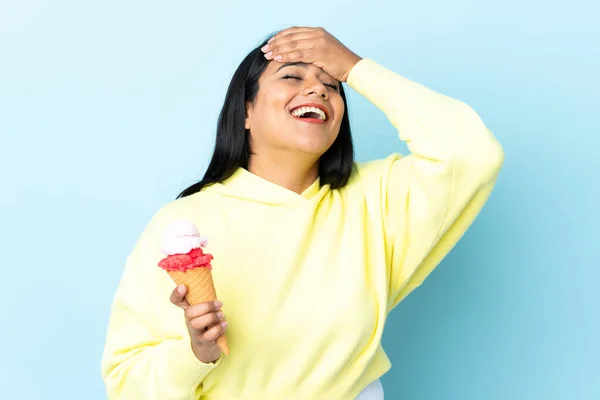
[[[167,272],[177,285],[187,286],[188,294],[185,298],[190,305],[217,300],[217,292],[209,268],[193,268],[185,272]],[[217,339],[217,344],[225,355],[229,355],[229,346],[224,333]]]

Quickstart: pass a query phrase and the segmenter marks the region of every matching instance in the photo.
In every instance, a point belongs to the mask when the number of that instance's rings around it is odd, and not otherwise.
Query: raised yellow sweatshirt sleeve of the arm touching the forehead
[[[372,60],[355,65],[348,85],[385,113],[410,150],[359,168],[383,227],[391,310],[474,221],[504,153],[470,106]]]

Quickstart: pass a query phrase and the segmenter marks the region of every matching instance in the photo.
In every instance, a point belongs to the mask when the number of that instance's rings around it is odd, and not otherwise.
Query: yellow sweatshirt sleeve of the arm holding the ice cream
[[[101,365],[109,400],[196,399],[221,361],[194,356],[183,311],[169,301],[175,284],[157,266],[152,225],[127,258],[112,305]]]

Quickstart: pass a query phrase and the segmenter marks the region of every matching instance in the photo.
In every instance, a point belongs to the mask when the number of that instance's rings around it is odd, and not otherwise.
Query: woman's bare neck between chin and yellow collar
[[[248,171],[279,186],[301,194],[319,176],[318,160],[274,160],[253,154],[248,161]]]

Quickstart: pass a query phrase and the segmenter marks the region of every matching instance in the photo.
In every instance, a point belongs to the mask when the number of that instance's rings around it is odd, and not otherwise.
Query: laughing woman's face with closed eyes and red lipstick
[[[335,141],[344,109],[340,83],[322,69],[271,61],[254,102],[247,105],[252,151],[320,157]]]

